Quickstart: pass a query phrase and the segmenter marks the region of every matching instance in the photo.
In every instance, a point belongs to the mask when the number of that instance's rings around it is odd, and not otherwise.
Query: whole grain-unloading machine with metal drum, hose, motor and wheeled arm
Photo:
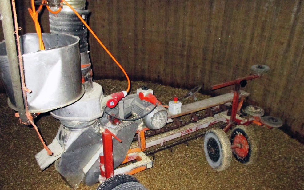
[[[37,11],[35,4],[39,6]],[[10,1],[1,2],[5,36],[5,41],[0,43],[1,78],[8,104],[17,111],[16,117],[26,125],[33,125],[44,145],[35,155],[42,170],[54,163],[72,188],[81,182],[85,185],[100,182],[98,189],[126,186],[144,189],[128,175],[152,167],[153,162],[146,154],[202,135],[200,129],[216,123],[225,127],[224,130],[211,129],[205,135],[204,150],[209,164],[218,171],[223,170],[229,166],[232,153],[237,160],[250,163],[254,149],[244,126],[254,122],[277,127],[280,121],[274,117],[261,118],[263,111],[255,106],[245,110],[250,117],[239,117],[242,101],[249,96],[240,87],[260,77],[267,66],[254,65],[255,74],[213,87],[235,85],[234,92],[186,105],[174,97],[169,106],[163,106],[148,87],[128,94],[130,79],[86,24],[89,10],[85,4],[86,0],[32,0],[29,12],[37,34],[18,36],[14,2],[13,17]],[[43,6],[50,12],[50,34],[42,34],[39,26],[38,14]],[[126,91],[106,96],[102,86],[93,82],[87,30],[126,75]],[[198,90],[188,95],[196,98]],[[205,113],[198,114],[201,110]],[[34,124],[35,117],[46,112],[61,122],[48,146]],[[190,120],[182,121],[180,117],[184,115],[190,116]],[[174,125],[166,125],[172,122]],[[225,132],[234,124],[241,127],[234,129],[229,141]],[[194,132],[197,133],[189,136]],[[176,139],[179,140],[170,143]]]

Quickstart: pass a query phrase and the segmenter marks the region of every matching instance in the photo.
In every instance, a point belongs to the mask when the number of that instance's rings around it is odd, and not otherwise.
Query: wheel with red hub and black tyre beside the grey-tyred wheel
[[[257,143],[254,133],[249,127],[239,125],[231,133],[230,143],[233,156],[243,164],[251,164],[256,160]]]

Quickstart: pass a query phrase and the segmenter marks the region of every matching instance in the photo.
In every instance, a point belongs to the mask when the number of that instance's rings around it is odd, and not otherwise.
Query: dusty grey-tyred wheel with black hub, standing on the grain
[[[222,129],[213,128],[207,131],[204,151],[209,165],[216,171],[223,171],[230,166],[232,150],[229,139]]]

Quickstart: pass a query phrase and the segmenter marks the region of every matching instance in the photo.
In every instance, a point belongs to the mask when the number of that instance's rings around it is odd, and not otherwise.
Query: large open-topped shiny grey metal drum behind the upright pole
[[[47,112],[69,105],[84,93],[81,84],[79,38],[67,34],[42,34],[45,49],[39,50],[37,34],[20,38],[30,113]],[[9,96],[16,109],[5,42],[0,43],[0,70]]]

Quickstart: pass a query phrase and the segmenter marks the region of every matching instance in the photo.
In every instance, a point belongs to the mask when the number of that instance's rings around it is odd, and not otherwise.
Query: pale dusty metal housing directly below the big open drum
[[[51,115],[63,121],[92,121],[102,117],[102,98],[101,85],[93,82],[93,89],[86,92],[80,100],[64,108],[54,110]]]

